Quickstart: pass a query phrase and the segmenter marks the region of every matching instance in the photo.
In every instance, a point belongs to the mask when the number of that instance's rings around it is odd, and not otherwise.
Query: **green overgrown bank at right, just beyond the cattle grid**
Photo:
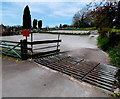
[[[110,37],[98,37],[98,46],[109,54],[112,65],[120,67],[120,35],[118,33]]]

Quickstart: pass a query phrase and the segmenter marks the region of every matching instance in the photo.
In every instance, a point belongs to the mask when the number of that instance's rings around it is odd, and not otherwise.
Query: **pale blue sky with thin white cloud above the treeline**
[[[26,1],[26,2],[24,2]],[[72,24],[74,14],[92,0],[2,0],[0,22],[5,26],[22,25],[23,11],[30,8],[31,20],[42,20],[43,27]]]

